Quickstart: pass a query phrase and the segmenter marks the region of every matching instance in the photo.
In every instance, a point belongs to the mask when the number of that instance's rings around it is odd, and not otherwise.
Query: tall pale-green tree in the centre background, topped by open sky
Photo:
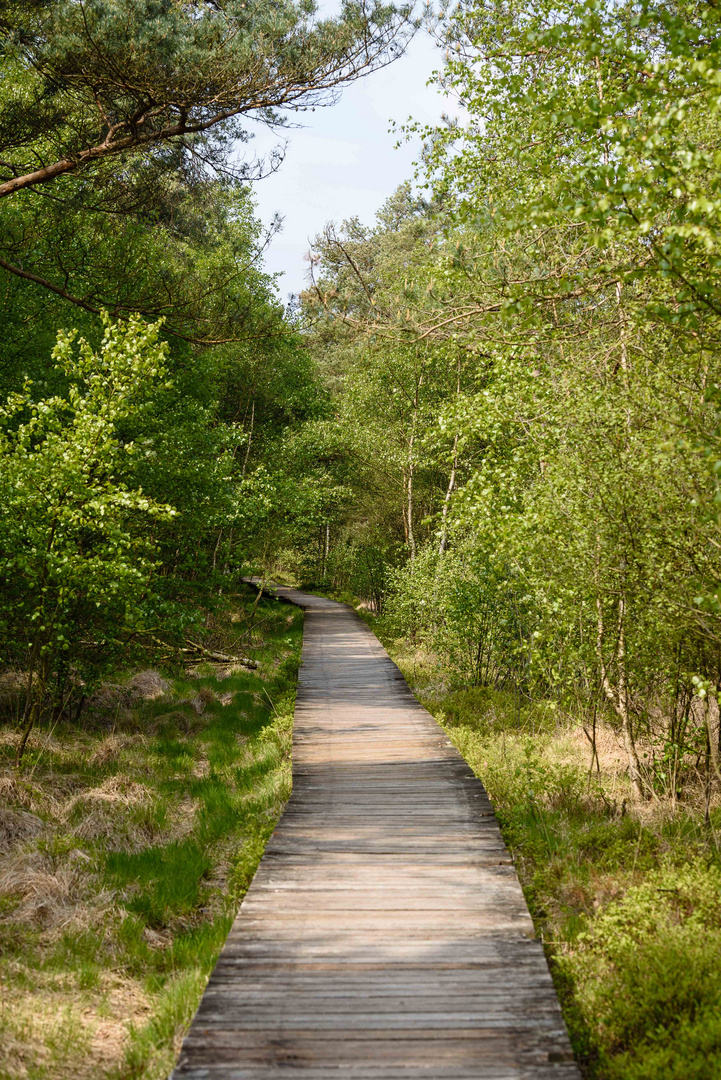
[[[459,446],[436,420],[467,383],[465,351],[418,341],[409,322],[406,293],[434,261],[437,232],[433,208],[404,184],[372,228],[352,219],[316,238],[312,287],[303,294],[316,315],[309,342],[335,388],[341,422],[355,455],[375,462],[373,495],[358,492],[358,512],[378,514],[383,489],[411,558],[441,500],[447,516]]]

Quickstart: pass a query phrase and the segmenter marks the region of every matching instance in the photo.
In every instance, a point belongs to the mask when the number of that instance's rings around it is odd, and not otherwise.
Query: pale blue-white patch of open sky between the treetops
[[[260,154],[278,140],[288,144],[277,173],[254,184],[261,221],[268,225],[275,212],[284,218],[266,253],[267,271],[282,274],[277,289],[284,301],[305,287],[304,256],[327,221],[355,215],[371,225],[387,197],[412,179],[420,144],[394,149],[398,136],[389,129],[392,120],[433,123],[440,118],[447,103],[425,83],[441,56],[433,39],[419,31],[400,59],[351,83],[336,105],[291,118],[302,127],[280,135],[261,132],[246,148]]]

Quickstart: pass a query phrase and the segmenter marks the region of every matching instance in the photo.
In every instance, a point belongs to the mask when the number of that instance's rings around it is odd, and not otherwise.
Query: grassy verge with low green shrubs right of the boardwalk
[[[364,615],[364,612],[359,612]],[[543,940],[584,1076],[721,1075],[721,806],[634,805],[618,735],[548,702],[450,690],[435,658],[364,616],[484,781]]]

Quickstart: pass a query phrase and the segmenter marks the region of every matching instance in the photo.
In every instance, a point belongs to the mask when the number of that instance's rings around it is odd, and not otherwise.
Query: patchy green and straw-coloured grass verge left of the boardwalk
[[[125,673],[19,774],[0,729],[3,1080],[171,1071],[290,794],[302,613],[263,598],[255,619],[256,671]]]

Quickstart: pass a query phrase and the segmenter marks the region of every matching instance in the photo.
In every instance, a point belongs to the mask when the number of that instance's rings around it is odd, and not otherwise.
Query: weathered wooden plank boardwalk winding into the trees
[[[294,791],[176,1080],[577,1080],[491,806],[341,604],[307,609]]]

